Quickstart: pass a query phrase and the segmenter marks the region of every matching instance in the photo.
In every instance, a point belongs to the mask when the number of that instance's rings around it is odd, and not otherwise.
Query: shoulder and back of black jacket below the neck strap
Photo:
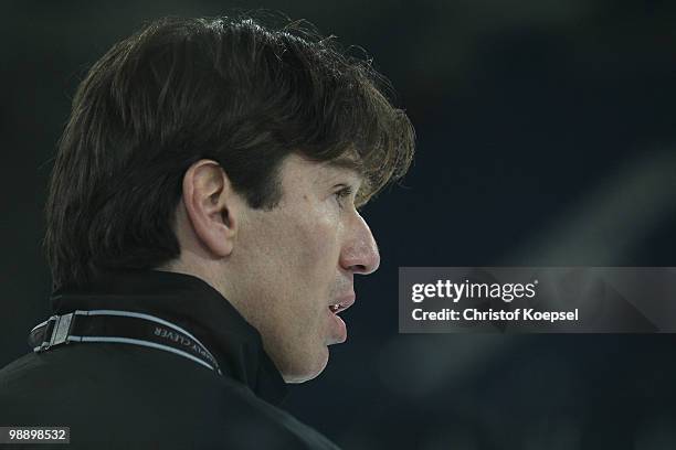
[[[68,426],[74,448],[336,448],[235,379],[119,344],[54,349],[2,368],[7,424]]]

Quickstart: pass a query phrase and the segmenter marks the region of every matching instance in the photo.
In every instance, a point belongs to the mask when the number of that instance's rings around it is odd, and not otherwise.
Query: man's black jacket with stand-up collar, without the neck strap
[[[51,301],[55,314],[125,310],[169,321],[211,352],[222,375],[158,349],[65,343],[0,371],[0,426],[67,426],[71,443],[59,448],[68,449],[336,448],[275,406],[286,387],[258,332],[201,279],[108,272]]]

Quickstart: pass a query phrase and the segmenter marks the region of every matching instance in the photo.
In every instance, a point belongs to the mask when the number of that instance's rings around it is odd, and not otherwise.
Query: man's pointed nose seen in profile
[[[359,213],[355,217],[348,243],[344,247],[340,264],[353,274],[369,275],[380,266],[380,253],[371,228]]]

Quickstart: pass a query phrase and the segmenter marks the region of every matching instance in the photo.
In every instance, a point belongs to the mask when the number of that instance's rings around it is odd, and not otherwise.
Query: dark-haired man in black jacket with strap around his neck
[[[367,62],[297,24],[165,19],[89,71],[46,205],[54,315],[0,426],[75,448],[334,448],[278,409],[379,265],[357,207],[413,130]],[[41,447],[42,448],[42,447]]]

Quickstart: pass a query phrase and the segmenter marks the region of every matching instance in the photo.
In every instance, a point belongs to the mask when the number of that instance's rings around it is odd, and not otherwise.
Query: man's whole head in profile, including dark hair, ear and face
[[[368,63],[250,19],[167,19],[81,84],[54,165],[54,288],[98,269],[186,271],[261,332],[285,379],[345,340],[331,304],[378,267],[357,212],[411,161],[406,116]],[[349,192],[348,192],[349,191]]]

